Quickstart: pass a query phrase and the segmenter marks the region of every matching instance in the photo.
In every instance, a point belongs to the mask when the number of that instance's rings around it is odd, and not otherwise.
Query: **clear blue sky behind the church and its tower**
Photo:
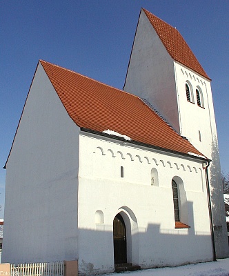
[[[176,27],[212,79],[221,167],[229,172],[229,1],[0,1],[0,204],[6,163],[39,59],[123,88],[141,8]],[[15,183],[17,185],[17,183]],[[3,217],[3,211],[0,213]]]

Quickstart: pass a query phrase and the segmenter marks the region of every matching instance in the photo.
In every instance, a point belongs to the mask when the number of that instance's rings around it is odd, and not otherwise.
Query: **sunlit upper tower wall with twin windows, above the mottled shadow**
[[[175,62],[175,76],[181,135],[187,137],[193,146],[211,159],[212,140],[214,137],[217,139],[217,130],[210,81],[177,62]],[[193,103],[186,98],[187,81],[192,86]],[[197,105],[197,88],[200,88],[203,94],[203,108]],[[199,131],[201,141],[199,141]]]

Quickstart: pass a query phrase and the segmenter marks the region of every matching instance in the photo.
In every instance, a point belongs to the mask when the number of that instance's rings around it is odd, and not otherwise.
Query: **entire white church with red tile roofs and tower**
[[[39,60],[5,166],[2,262],[97,275],[228,257],[210,81],[145,9],[123,90]]]

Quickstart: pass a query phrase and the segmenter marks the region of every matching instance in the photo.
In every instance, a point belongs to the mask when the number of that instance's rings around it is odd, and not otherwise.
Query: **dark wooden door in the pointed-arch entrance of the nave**
[[[113,221],[113,239],[115,264],[125,264],[127,262],[126,225],[120,213]]]

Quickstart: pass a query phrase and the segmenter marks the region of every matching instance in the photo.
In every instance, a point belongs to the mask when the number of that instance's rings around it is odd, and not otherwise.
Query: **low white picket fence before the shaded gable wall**
[[[11,264],[11,276],[64,276],[64,262]]]

